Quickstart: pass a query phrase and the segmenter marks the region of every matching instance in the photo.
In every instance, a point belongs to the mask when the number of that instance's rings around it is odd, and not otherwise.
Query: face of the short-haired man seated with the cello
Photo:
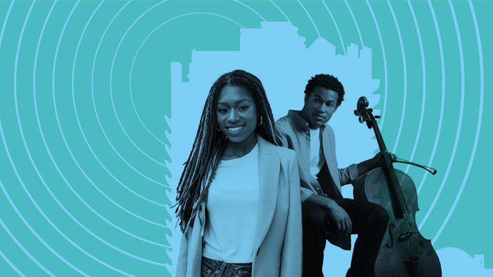
[[[336,111],[339,94],[323,86],[316,86],[309,96],[304,97],[302,114],[310,124],[310,129],[318,129],[325,124]]]

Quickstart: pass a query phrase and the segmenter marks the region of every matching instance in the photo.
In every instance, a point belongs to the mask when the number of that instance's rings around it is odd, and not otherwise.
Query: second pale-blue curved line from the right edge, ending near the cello
[[[429,215],[432,213],[435,204],[438,201],[438,198],[442,194],[443,188],[445,186],[445,182],[447,182],[447,178],[449,177],[450,170],[452,169],[452,163],[454,162],[455,158],[455,153],[457,152],[457,146],[459,145],[459,136],[460,136],[460,131],[462,129],[462,116],[464,115],[464,91],[465,91],[465,84],[464,84],[464,53],[462,51],[462,39],[460,37],[460,31],[459,31],[459,26],[457,24],[457,18],[455,16],[455,11],[454,11],[454,6],[452,6],[452,3],[449,1],[449,6],[450,9],[452,10],[452,18],[454,19],[454,26],[455,26],[455,32],[457,34],[457,44],[459,45],[459,60],[460,60],[460,109],[459,109],[459,122],[457,123],[457,132],[455,134],[455,141],[454,141],[454,146],[452,148],[452,154],[449,158],[449,164],[447,165],[447,171],[445,171],[444,178],[442,179],[442,183],[440,183],[440,186],[437,191],[437,195],[434,197],[432,204],[429,206],[427,213],[424,215],[424,218],[419,226],[422,226],[427,219],[429,218]],[[437,236],[433,238],[433,242],[436,241]]]

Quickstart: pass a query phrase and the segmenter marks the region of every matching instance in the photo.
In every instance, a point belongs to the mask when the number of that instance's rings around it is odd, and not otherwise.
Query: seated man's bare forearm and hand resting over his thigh
[[[319,196],[315,193],[307,198],[307,201],[322,206],[322,208],[329,211],[329,218],[335,224],[336,233],[344,236],[349,236],[351,234],[351,219],[349,218],[346,211],[344,211],[344,209],[341,208],[341,206],[339,206],[336,201],[325,196]]]

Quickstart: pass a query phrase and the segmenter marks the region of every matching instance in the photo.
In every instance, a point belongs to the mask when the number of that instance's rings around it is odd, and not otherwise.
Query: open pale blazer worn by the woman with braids
[[[257,134],[259,210],[252,277],[302,276],[302,206],[294,151]],[[176,277],[200,277],[205,218],[196,213],[188,239],[182,234]]]

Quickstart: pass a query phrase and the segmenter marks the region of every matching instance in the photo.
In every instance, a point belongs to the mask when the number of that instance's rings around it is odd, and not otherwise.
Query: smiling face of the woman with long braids
[[[217,125],[229,141],[241,142],[255,136],[257,106],[247,89],[226,85],[217,98]]]

